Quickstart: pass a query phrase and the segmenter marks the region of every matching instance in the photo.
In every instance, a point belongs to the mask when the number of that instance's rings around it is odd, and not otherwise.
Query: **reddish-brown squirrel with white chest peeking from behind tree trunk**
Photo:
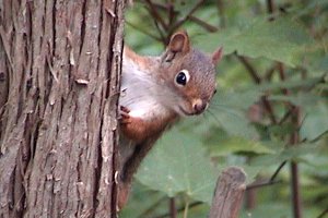
[[[162,133],[180,117],[202,113],[215,93],[222,48],[207,56],[175,33],[161,57],[124,48],[120,106],[118,209],[127,202],[134,172]]]

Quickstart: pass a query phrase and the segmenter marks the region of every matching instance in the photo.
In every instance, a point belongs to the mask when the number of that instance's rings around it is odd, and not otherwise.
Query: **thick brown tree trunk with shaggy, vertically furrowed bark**
[[[124,4],[0,0],[0,217],[116,217]]]

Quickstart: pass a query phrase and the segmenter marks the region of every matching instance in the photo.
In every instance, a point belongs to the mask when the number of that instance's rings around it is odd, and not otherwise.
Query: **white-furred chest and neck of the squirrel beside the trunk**
[[[160,59],[141,57],[124,49],[122,84],[119,105],[127,107],[131,117],[151,121],[159,116],[169,116],[171,111],[163,107],[165,98],[164,81],[154,80],[154,68],[160,65]],[[166,94],[169,95],[169,94]]]

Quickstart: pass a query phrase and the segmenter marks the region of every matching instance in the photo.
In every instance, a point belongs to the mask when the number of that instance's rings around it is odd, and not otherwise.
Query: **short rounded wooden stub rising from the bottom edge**
[[[220,175],[209,218],[237,218],[246,190],[246,174],[231,167]]]

